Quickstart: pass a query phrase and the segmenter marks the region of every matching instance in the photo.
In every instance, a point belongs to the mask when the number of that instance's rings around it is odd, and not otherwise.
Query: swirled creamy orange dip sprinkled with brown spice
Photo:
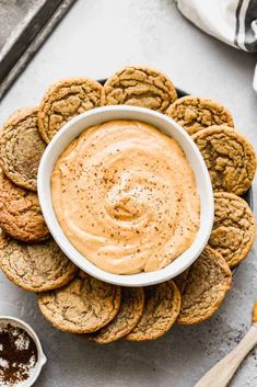
[[[199,228],[200,200],[182,148],[141,122],[83,132],[55,166],[51,196],[70,242],[110,273],[166,266]]]

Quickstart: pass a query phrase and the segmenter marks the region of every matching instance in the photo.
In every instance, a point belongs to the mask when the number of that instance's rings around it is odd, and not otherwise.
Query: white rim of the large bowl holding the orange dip
[[[183,148],[195,172],[201,202],[200,227],[194,243],[166,268],[149,273],[119,275],[96,268],[83,257],[65,236],[56,218],[51,203],[50,177],[65,148],[86,128],[112,119],[136,119],[155,126],[173,137]],[[104,106],[82,113],[68,122],[47,146],[40,160],[37,178],[38,197],[46,224],[61,250],[81,270],[94,277],[121,286],[145,286],[157,284],[180,274],[199,257],[210,237],[213,224],[213,192],[210,175],[203,158],[185,129],[167,116],[149,109],[115,105]]]

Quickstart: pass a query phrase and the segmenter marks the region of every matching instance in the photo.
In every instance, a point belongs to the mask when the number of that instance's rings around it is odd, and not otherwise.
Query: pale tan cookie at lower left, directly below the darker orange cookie
[[[28,292],[63,286],[78,271],[54,239],[27,244],[3,232],[0,235],[0,268],[10,281]]]

